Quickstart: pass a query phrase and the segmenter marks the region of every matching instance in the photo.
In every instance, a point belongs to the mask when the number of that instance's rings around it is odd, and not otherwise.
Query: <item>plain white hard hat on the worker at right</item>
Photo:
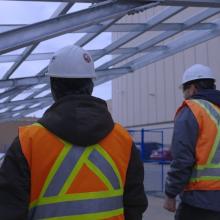
[[[213,72],[208,66],[202,64],[195,64],[188,68],[182,78],[182,85],[184,83],[197,80],[197,79],[214,79]]]

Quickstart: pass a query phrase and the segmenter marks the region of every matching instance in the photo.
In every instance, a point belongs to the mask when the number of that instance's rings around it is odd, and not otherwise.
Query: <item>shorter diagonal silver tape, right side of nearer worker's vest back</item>
[[[120,188],[119,179],[116,176],[112,166],[97,150],[94,150],[88,159],[102,171],[114,189]]]

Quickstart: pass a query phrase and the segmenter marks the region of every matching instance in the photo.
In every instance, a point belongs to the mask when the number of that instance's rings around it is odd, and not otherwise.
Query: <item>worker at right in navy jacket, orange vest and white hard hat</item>
[[[183,74],[164,208],[175,220],[220,219],[220,91],[212,70],[195,64]],[[181,202],[176,210],[176,196]]]

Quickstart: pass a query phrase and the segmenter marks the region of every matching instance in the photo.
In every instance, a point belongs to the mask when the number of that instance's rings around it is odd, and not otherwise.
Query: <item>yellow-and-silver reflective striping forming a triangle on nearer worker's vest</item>
[[[120,173],[109,154],[98,144],[64,148],[47,176],[37,201],[30,204],[29,219],[106,219],[123,214]],[[71,162],[70,162],[71,161]],[[86,165],[107,187],[106,191],[67,191]]]

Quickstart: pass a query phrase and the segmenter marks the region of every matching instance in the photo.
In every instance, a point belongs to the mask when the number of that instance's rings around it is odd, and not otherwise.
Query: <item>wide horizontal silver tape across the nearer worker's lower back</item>
[[[41,205],[31,209],[29,219],[37,220],[62,216],[68,217],[74,215],[114,211],[121,208],[123,208],[122,196],[61,202],[49,205]]]

